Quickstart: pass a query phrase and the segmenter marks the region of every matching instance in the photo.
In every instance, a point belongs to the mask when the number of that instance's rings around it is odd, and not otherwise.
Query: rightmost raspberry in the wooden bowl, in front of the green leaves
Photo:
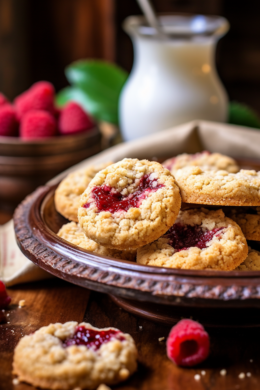
[[[91,129],[93,126],[94,123],[90,116],[74,101],[65,105],[58,120],[58,129],[61,134],[78,133]]]

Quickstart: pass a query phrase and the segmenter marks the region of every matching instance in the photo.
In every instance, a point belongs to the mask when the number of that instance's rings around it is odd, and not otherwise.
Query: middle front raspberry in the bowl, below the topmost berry
[[[20,123],[20,137],[39,138],[56,135],[56,121],[50,112],[43,110],[28,111]]]

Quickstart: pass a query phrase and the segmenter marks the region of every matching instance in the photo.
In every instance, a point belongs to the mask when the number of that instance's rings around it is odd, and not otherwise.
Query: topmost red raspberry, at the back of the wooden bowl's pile
[[[18,118],[30,110],[45,110],[55,113],[53,106],[55,89],[48,81],[39,81],[32,85],[27,91],[14,99]]]

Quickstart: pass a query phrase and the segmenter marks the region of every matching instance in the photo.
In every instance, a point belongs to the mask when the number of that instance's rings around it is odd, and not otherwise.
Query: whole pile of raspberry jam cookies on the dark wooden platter
[[[219,153],[88,167],[60,183],[55,206],[72,221],[58,236],[96,254],[168,268],[260,270],[260,172],[239,170]]]

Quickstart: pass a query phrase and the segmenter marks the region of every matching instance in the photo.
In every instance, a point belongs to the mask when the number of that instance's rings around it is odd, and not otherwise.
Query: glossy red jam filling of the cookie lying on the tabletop
[[[85,345],[91,349],[99,349],[101,344],[115,339],[125,340],[119,330],[94,330],[87,329],[85,326],[77,326],[73,338],[64,341],[64,347]]]

